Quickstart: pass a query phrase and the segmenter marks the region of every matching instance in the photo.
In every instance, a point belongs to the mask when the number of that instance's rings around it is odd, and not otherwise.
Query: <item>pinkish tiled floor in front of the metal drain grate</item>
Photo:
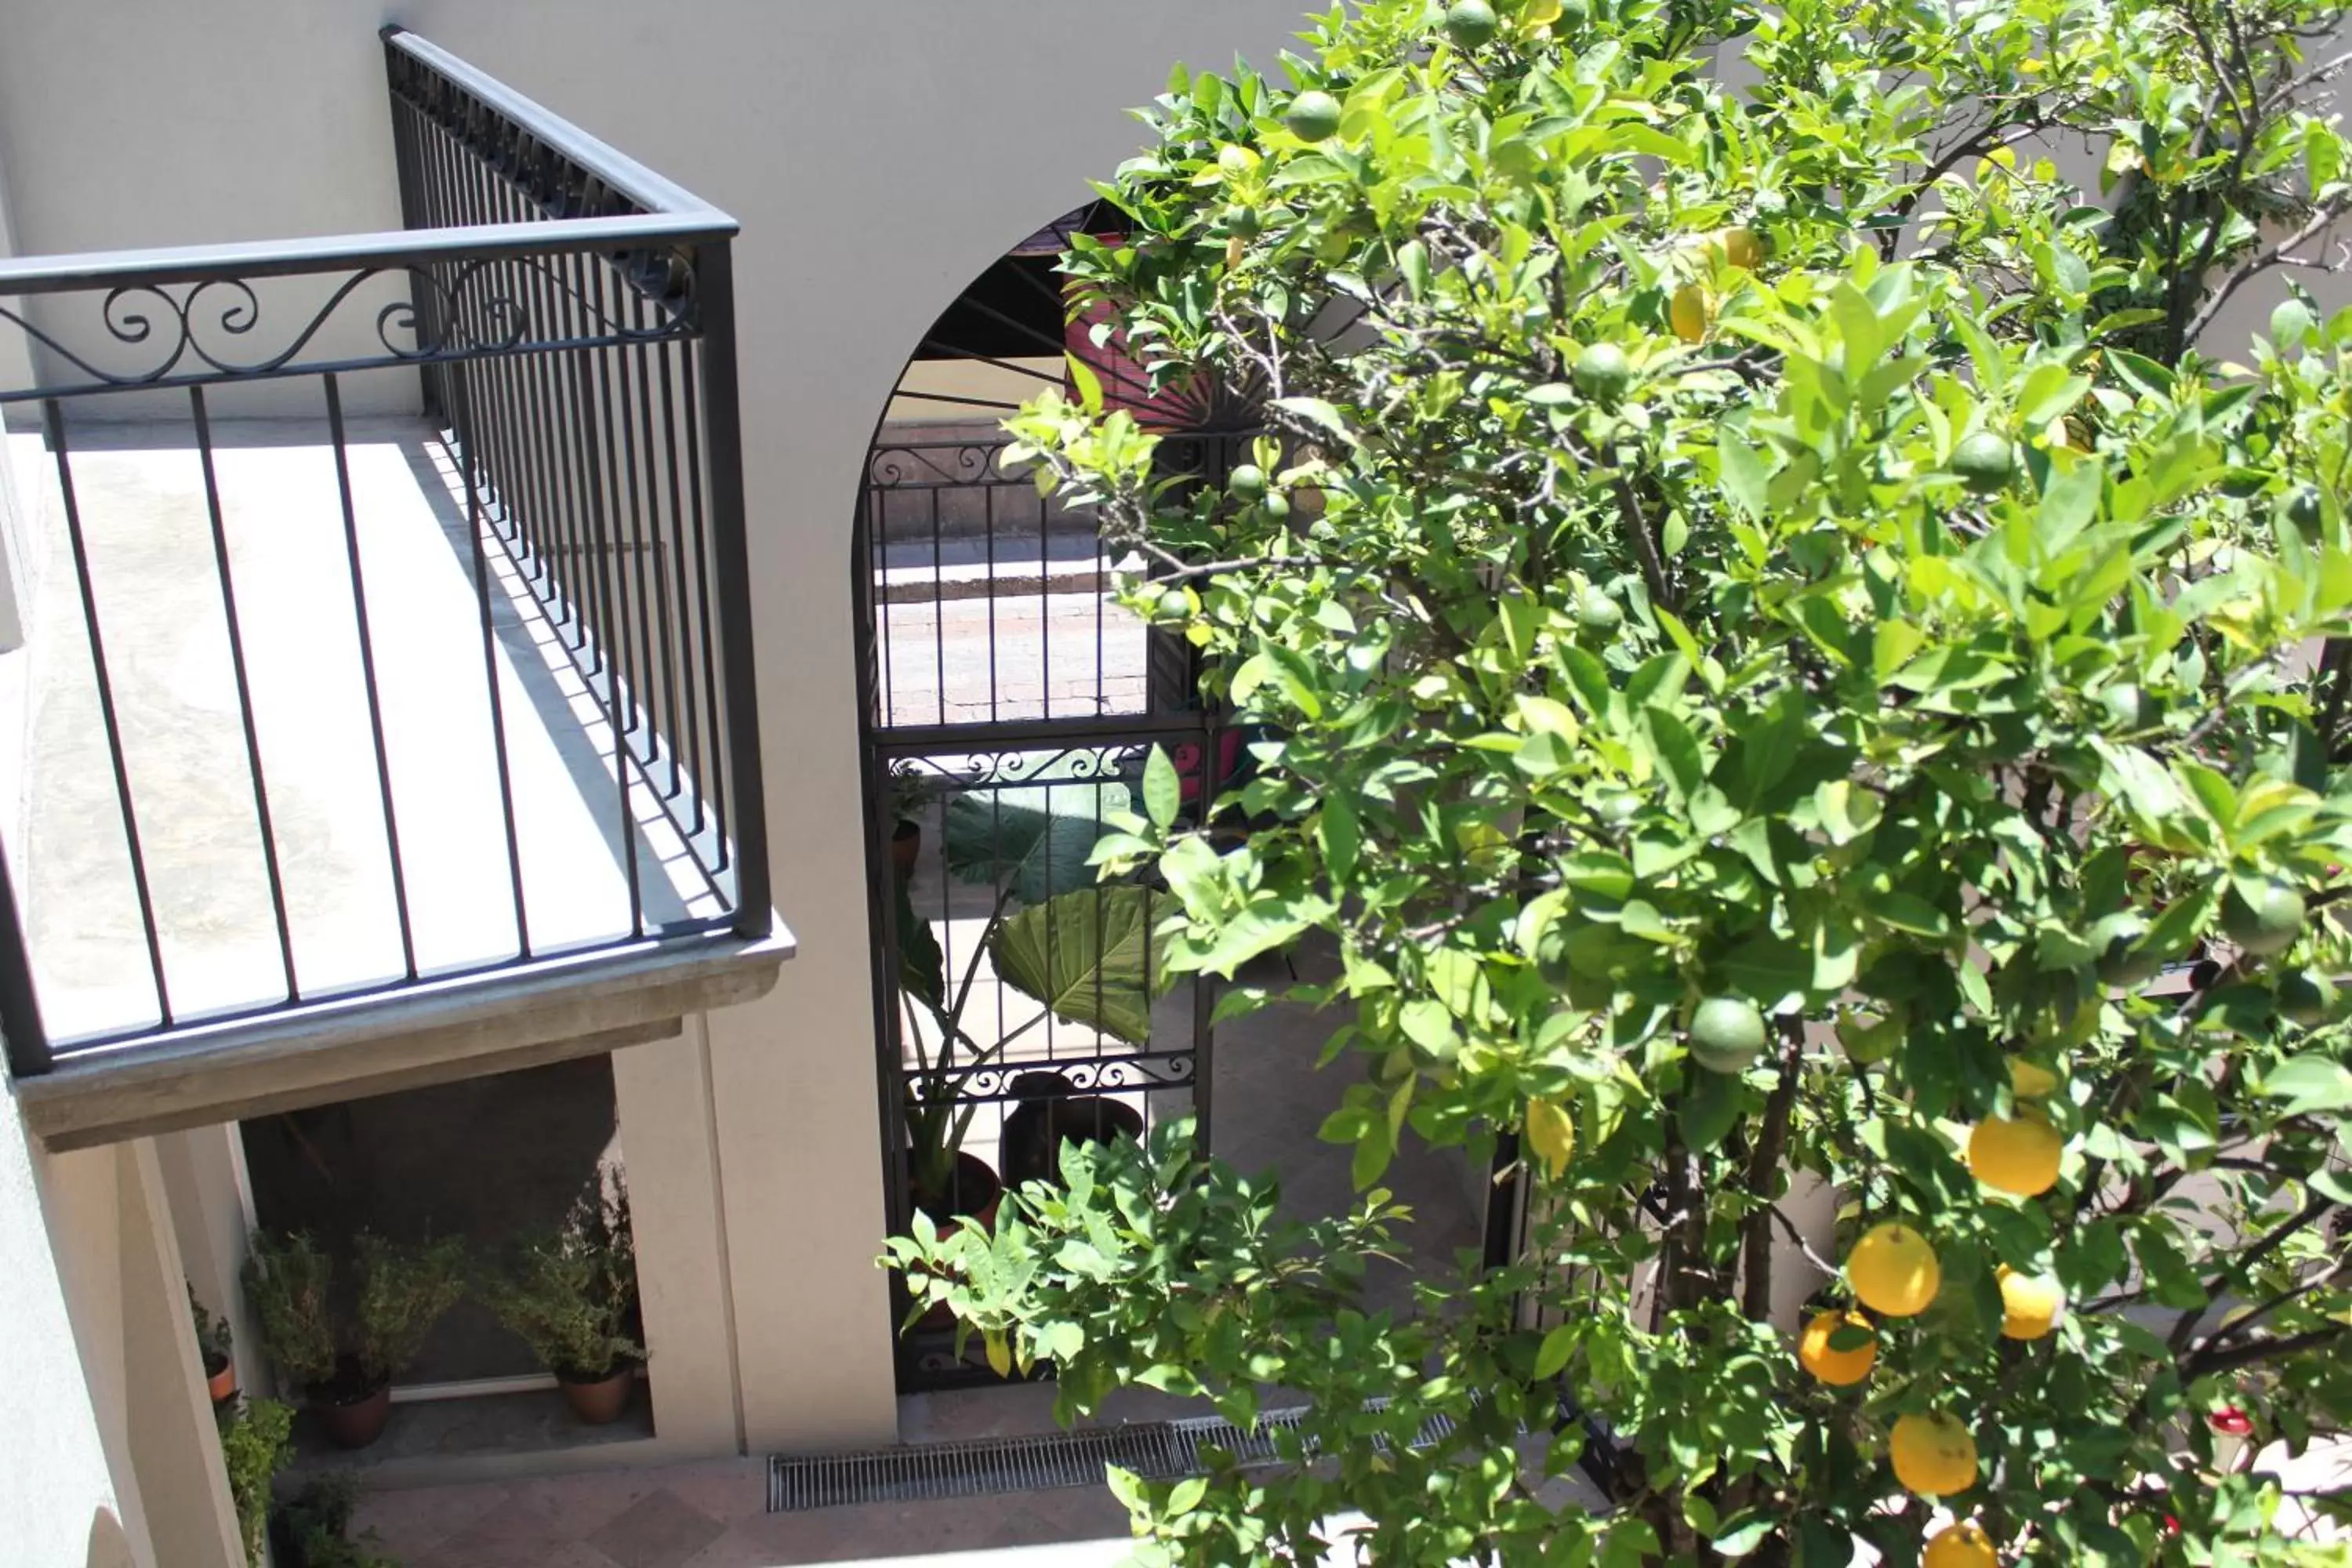
[[[1049,1542],[1127,1554],[1127,1514],[1103,1488],[769,1514],[762,1460],[379,1493],[360,1526],[400,1568],[783,1568]]]

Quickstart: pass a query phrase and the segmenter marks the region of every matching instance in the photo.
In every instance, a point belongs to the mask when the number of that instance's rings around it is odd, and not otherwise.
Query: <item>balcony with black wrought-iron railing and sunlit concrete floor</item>
[[[0,263],[0,1030],[52,1147],[661,1039],[790,954],[736,226],[386,71],[405,230]]]

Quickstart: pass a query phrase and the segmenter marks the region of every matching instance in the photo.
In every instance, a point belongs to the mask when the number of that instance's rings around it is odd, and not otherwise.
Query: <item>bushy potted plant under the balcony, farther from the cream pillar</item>
[[[336,1288],[334,1260],[303,1232],[254,1232],[245,1293],[270,1361],[303,1389],[310,1413],[341,1448],[383,1434],[393,1373],[416,1359],[433,1324],[463,1293],[466,1248],[456,1239],[353,1239],[353,1274]]]

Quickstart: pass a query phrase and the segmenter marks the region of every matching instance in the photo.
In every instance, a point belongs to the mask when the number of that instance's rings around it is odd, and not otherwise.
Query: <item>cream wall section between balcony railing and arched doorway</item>
[[[1270,59],[1298,9],[397,9],[743,221],[736,299],[769,832],[776,903],[802,940],[767,1001],[710,1020],[753,1450],[896,1436],[887,1298],[873,1267],[882,1171],[849,628],[866,440],[915,339],[962,284],[1134,150],[1141,132],[1122,108],[1148,101],[1169,61],[1235,49]],[[635,1159],[626,1126],[623,1140]]]

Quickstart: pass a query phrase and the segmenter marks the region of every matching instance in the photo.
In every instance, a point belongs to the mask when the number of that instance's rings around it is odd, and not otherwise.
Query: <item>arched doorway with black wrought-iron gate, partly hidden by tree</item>
[[[917,1208],[988,1213],[997,1182],[1051,1175],[1063,1138],[1192,1114],[1211,1131],[1209,980],[1169,983],[1167,893],[1096,884],[1105,818],[1136,809],[1152,748],[1197,811],[1242,766],[1192,649],[1112,599],[1124,564],[1084,510],[1007,470],[1000,418],[1087,360],[1164,435],[1171,475],[1223,484],[1247,400],[1152,395],[1117,343],[1070,320],[1056,256],[1117,233],[1082,207],[1030,235],[931,324],[891,393],[858,489],[854,595],[882,1168],[891,1232]],[[894,1281],[896,1326],[906,1293]],[[898,1338],[901,1392],[988,1380],[950,1326]]]

